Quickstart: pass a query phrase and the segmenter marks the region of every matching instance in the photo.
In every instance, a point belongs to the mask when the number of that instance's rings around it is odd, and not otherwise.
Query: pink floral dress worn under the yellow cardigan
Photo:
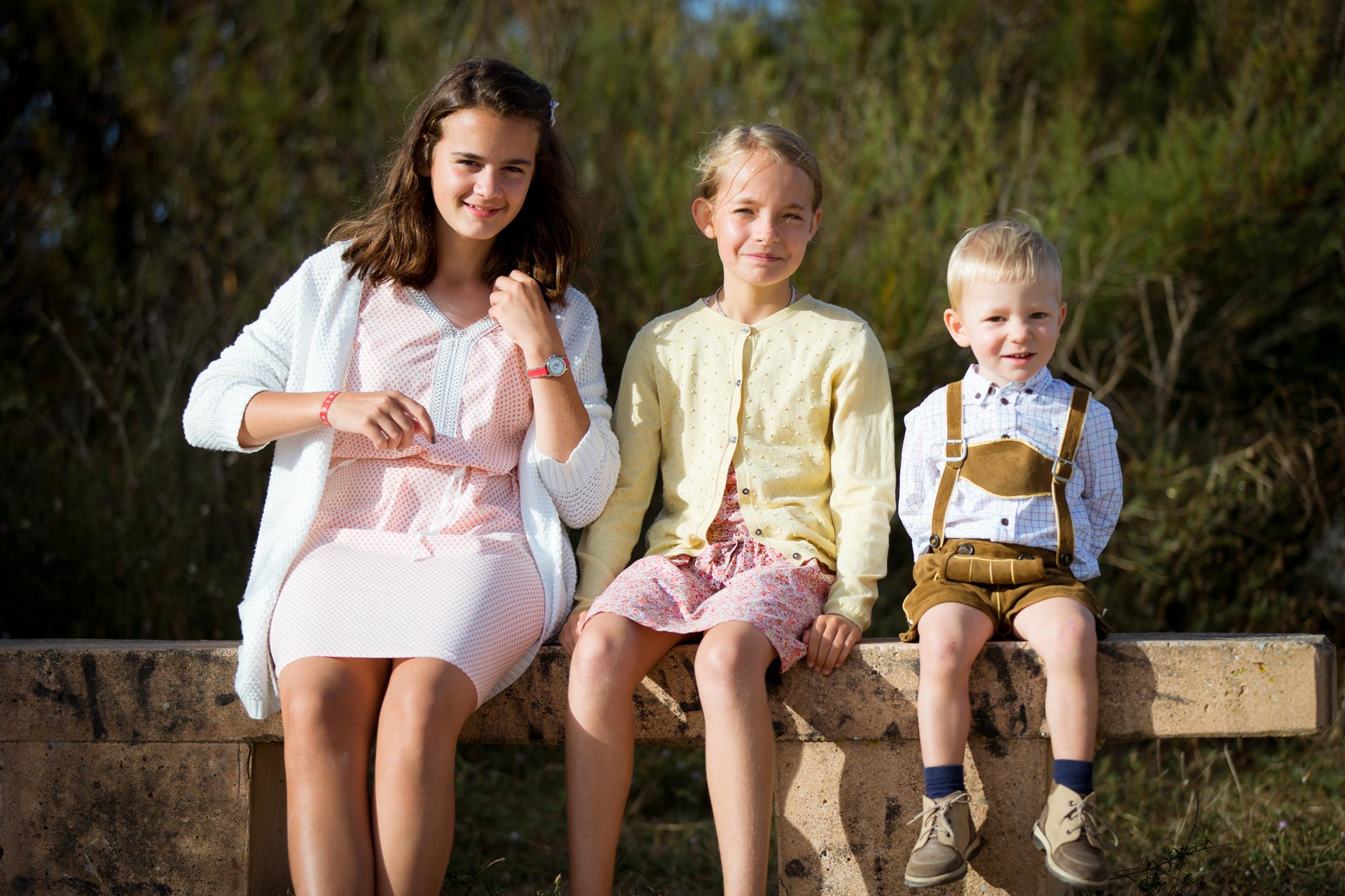
[[[822,614],[835,575],[752,540],[738,505],[738,478],[729,467],[720,512],[697,556],[636,560],[589,607],[615,613],[655,631],[709,631],[721,622],[749,622],[771,641],[785,670],[803,658],[803,633]]]

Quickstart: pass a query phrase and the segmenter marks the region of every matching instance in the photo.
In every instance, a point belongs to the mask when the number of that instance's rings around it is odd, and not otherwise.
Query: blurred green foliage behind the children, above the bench
[[[1120,433],[1114,625],[1345,638],[1338,0],[13,0],[0,634],[238,637],[269,451],[188,447],[187,391],[472,54],[561,101],[613,391],[635,329],[717,283],[695,150],[777,121],[826,177],[796,279],[873,324],[898,412],[970,360],[939,321],[962,231],[1022,210],[1056,243],[1053,367]],[[904,627],[896,521],[890,556],[870,635]]]

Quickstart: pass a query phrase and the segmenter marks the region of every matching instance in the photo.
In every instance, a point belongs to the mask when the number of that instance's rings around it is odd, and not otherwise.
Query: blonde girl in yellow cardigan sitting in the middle
[[[790,277],[822,220],[798,134],[734,128],[701,159],[691,214],[724,285],[636,336],[621,375],[621,473],[580,543],[566,725],[570,879],[609,893],[633,764],[631,700],[672,645],[701,638],[706,776],[724,892],[764,893],[775,733],[765,672],[824,674],[869,625],[896,506],[892,392],[854,313]],[[663,510],[640,536],[658,473]],[[620,575],[617,575],[620,572]]]

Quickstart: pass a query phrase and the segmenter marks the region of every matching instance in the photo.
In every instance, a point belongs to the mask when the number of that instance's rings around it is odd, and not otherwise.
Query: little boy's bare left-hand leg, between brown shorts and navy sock
[[[920,617],[919,631],[920,758],[927,767],[960,766],[971,731],[971,664],[995,627],[981,610],[940,603]]]

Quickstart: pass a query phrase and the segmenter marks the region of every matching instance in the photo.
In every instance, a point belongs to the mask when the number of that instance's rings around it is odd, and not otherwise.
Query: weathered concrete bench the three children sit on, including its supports
[[[281,723],[242,712],[234,647],[0,641],[0,891],[284,892]],[[703,742],[694,650],[646,678],[639,743]],[[771,682],[781,893],[905,892],[917,670],[913,645],[880,638],[831,678],[800,668]],[[1064,892],[1029,838],[1049,782],[1040,672],[1022,643],[989,645],[972,670],[967,780],[986,846],[960,892]],[[566,673],[545,649],[463,742],[561,743]],[[1334,647],[1311,635],[1112,635],[1099,676],[1108,739],[1309,735],[1337,705]]]

